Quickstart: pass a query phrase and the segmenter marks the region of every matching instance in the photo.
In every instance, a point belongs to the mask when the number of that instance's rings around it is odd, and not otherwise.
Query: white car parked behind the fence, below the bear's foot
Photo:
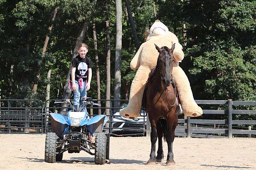
[[[125,108],[127,105],[122,105]],[[120,111],[120,109],[119,109]],[[141,110],[137,118],[129,119],[122,117],[119,111],[114,113],[112,121],[112,133],[117,135],[144,135],[146,132],[147,115]]]

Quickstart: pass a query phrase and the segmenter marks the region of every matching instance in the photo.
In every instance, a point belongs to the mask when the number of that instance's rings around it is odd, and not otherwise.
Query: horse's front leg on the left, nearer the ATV
[[[157,128],[155,123],[151,123],[151,133],[150,133],[150,139],[151,139],[151,152],[150,152],[150,158],[148,159],[147,164],[156,164],[156,142],[157,142]]]

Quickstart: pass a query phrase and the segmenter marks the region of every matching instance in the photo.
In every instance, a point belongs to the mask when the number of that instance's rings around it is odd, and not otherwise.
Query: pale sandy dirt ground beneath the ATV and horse
[[[256,170],[256,139],[175,138],[174,166],[146,165],[151,148],[147,137],[111,137],[111,164],[94,157],[64,153],[63,161],[44,161],[45,135],[0,134],[0,170]],[[165,161],[167,144],[164,143]]]

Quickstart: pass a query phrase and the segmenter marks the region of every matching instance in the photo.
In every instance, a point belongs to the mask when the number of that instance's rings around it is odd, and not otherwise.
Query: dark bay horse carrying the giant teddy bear
[[[151,123],[151,153],[147,164],[156,164],[164,158],[162,138],[168,144],[168,155],[166,165],[175,164],[172,152],[172,143],[175,138],[175,128],[178,116],[175,113],[177,107],[177,91],[174,80],[172,79],[172,64],[174,57],[172,48],[164,46],[159,48],[155,45],[159,56],[155,73],[148,80],[145,91],[146,110]],[[155,145],[158,137],[157,156],[155,155]]]

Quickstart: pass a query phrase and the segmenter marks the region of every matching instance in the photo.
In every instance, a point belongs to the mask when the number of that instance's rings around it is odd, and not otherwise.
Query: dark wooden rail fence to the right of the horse
[[[256,135],[256,130],[251,130],[248,126],[247,130],[235,129],[234,125],[256,125],[256,120],[233,120],[236,114],[250,114],[255,115],[256,110],[233,110],[233,106],[256,106],[256,102],[232,101],[229,100],[195,100],[198,105],[226,105],[226,110],[203,110],[203,117],[207,114],[212,115],[226,115],[226,119],[211,120],[211,119],[198,119],[190,118],[178,119],[178,123],[183,126],[177,126],[175,130],[176,136],[187,137],[202,137],[202,138],[232,138],[234,135]],[[204,127],[194,127],[192,125],[204,125]],[[211,127],[214,125],[223,125],[224,128]],[[149,129],[150,130],[150,129]]]

